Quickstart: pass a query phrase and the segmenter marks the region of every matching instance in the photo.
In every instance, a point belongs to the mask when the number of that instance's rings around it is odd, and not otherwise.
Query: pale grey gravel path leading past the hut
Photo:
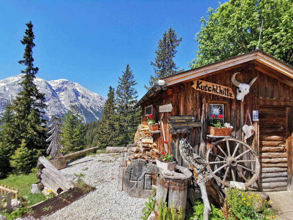
[[[81,179],[96,190],[43,219],[140,219],[147,199],[129,197],[117,190],[118,164],[119,154],[92,155],[69,163],[70,167],[61,172],[83,173]]]

